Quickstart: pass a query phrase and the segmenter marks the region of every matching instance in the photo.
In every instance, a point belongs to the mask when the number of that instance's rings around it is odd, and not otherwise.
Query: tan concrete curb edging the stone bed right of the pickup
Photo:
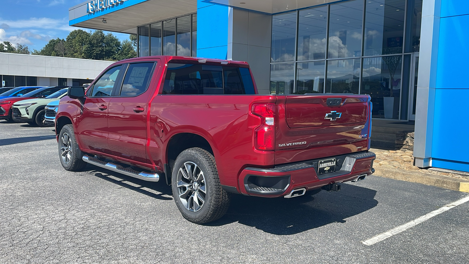
[[[373,167],[373,169],[375,169],[375,173],[373,173],[375,176],[416,182],[469,193],[469,180],[466,179],[456,179],[453,177],[433,175],[420,171],[416,172],[402,169],[379,168],[379,166]]]

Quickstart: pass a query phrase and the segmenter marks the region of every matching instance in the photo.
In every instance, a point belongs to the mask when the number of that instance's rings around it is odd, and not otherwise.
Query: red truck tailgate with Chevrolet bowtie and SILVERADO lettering
[[[368,95],[278,96],[275,163],[343,155],[368,149]]]

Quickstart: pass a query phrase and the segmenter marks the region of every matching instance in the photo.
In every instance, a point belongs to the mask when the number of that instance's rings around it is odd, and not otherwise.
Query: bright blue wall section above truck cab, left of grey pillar
[[[197,1],[197,57],[226,59],[228,8]]]

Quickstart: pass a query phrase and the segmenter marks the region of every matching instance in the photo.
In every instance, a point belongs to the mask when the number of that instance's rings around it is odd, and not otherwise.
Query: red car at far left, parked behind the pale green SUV
[[[0,120],[5,119],[5,120],[13,120],[13,113],[11,107],[13,104],[17,101],[23,101],[27,99],[34,99],[34,98],[41,98],[41,97],[46,97],[48,95],[51,95],[57,91],[59,91],[61,88],[56,87],[56,86],[50,86],[50,87],[41,87],[41,86],[25,86],[28,88],[31,92],[25,93],[19,97],[7,97],[0,99]],[[28,90],[24,89],[24,90]]]

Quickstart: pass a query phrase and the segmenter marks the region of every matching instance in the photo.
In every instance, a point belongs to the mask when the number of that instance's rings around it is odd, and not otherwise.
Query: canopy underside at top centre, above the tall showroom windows
[[[270,15],[337,2],[337,0],[205,0],[204,2],[243,8]]]

